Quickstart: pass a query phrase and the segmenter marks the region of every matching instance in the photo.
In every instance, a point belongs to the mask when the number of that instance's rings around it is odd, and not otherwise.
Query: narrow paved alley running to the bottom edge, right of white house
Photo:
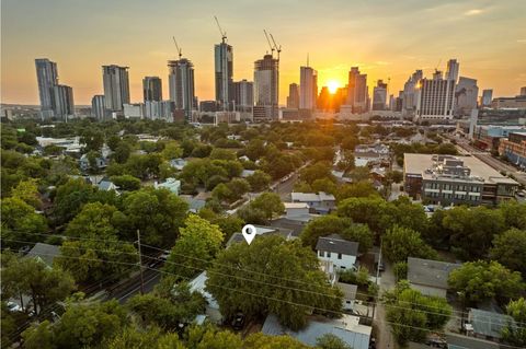
[[[395,279],[395,274],[392,272],[392,266],[384,261],[384,265],[386,267],[386,270],[381,274],[381,279],[380,279],[380,292],[379,294],[382,294],[387,290],[391,290],[395,288],[397,284],[397,281]],[[391,326],[386,323],[386,307],[377,303],[376,307],[376,314],[375,314],[375,322],[378,325],[378,349],[393,349],[397,348],[395,338],[392,337],[391,334]]]

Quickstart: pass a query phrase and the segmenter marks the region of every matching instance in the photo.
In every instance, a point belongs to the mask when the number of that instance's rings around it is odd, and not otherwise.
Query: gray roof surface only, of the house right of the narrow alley
[[[449,272],[461,265],[422,258],[408,258],[408,280],[414,284],[424,284],[447,290]]]

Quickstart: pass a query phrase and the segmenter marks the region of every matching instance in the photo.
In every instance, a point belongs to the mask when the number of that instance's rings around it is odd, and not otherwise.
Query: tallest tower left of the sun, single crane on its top
[[[216,101],[226,110],[233,101],[233,53],[232,46],[222,42],[215,45]]]

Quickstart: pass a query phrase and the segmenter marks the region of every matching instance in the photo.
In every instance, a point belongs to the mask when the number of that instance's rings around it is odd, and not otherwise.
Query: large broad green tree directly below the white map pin
[[[341,291],[328,284],[316,254],[298,242],[258,236],[250,246],[233,244],[216,260],[208,268],[206,289],[227,318],[239,311],[249,317],[271,312],[283,325],[298,329],[307,324],[306,314],[313,307],[332,315],[341,310]]]

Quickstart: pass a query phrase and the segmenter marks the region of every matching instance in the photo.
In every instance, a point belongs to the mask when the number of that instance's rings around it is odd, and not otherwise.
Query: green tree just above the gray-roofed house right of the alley
[[[382,253],[392,263],[407,261],[408,257],[435,259],[436,252],[422,240],[420,233],[395,225],[382,239]]]

